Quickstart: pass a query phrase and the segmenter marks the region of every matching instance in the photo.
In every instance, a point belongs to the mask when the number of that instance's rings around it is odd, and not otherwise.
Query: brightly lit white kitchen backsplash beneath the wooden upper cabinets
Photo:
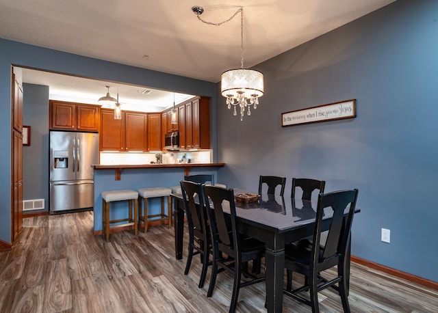
[[[101,165],[138,165],[157,161],[155,154],[162,154],[163,164],[211,163],[212,150],[174,152],[101,152]],[[188,161],[190,160],[190,161]]]

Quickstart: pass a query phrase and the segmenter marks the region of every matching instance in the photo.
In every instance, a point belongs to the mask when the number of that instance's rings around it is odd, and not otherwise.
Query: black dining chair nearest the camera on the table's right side
[[[329,286],[335,288],[341,297],[344,312],[350,312],[348,305],[348,243],[350,230],[357,201],[357,189],[320,193],[316,210],[315,230],[313,240],[309,245],[288,245],[285,249],[285,268],[292,272],[305,275],[305,285],[294,290],[284,290],[285,295],[305,303],[312,308],[312,312],[319,312],[318,291]],[[348,208],[348,215],[344,213]],[[325,211],[325,212],[324,212]],[[320,245],[322,232],[322,217],[333,211],[326,243]],[[304,241],[302,242],[304,243]],[[337,267],[337,276],[330,280],[322,277],[321,271]],[[289,282],[288,282],[289,284]],[[336,286],[337,284],[337,286]],[[309,290],[310,301],[300,292]]]

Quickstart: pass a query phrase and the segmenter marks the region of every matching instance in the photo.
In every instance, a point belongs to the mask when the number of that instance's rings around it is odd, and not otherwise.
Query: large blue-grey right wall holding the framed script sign
[[[398,0],[257,66],[266,94],[243,122],[218,100],[218,179],[359,189],[352,254],[438,281],[438,1]],[[357,118],[281,128],[281,113],[357,99]],[[381,242],[381,228],[391,243]]]

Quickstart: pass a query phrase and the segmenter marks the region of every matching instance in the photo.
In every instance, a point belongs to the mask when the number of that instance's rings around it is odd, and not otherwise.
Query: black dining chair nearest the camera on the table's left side
[[[213,249],[213,264],[207,297],[213,294],[218,271],[220,269],[231,271],[234,274],[234,283],[229,312],[235,312],[240,288],[265,280],[265,277],[257,277],[242,270],[245,262],[261,260],[265,245],[251,237],[243,238],[237,231],[233,189],[203,185],[203,193]],[[242,281],[242,273],[247,280]]]

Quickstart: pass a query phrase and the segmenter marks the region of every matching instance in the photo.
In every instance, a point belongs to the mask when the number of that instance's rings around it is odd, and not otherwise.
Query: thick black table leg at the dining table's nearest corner
[[[282,312],[285,250],[273,251],[266,248],[265,262],[266,307],[268,312]]]

